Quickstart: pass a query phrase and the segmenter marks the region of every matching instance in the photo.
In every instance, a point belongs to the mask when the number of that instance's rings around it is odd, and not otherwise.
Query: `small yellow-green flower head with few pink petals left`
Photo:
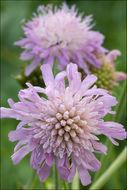
[[[111,91],[114,86],[118,85],[119,81],[127,79],[126,73],[118,72],[115,69],[115,60],[120,54],[120,51],[112,50],[103,56],[98,55],[97,57],[101,61],[100,68],[89,65],[90,73],[94,74],[98,78],[98,80],[95,82],[97,87]],[[86,77],[84,71],[80,71],[82,72],[82,78]]]

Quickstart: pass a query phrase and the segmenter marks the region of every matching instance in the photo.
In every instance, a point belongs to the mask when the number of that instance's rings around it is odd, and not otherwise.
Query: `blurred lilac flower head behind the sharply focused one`
[[[101,46],[104,36],[91,30],[91,21],[91,15],[82,19],[75,6],[69,9],[65,3],[60,8],[39,6],[33,19],[23,26],[25,37],[15,43],[25,49],[22,60],[33,60],[25,70],[26,76],[42,62],[53,65],[55,59],[60,70],[70,61],[87,74],[87,62],[99,68],[101,62],[95,53],[107,50]]]

